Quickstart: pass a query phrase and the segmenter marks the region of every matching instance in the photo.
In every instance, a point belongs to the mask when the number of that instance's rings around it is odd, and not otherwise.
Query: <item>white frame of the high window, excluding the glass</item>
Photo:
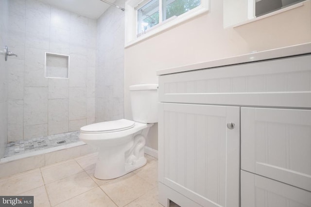
[[[168,30],[169,28],[187,21],[190,18],[206,13],[209,10],[209,0],[201,0],[201,4],[190,11],[180,16],[173,16],[163,21],[163,5],[162,0],[159,0],[159,23],[148,29],[146,33],[137,37],[137,9],[141,8],[148,2],[149,0],[127,0],[125,2],[125,48],[154,36],[159,32]]]

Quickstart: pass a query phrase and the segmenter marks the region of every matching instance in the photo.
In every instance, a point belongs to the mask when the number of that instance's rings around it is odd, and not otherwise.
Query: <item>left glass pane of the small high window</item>
[[[159,0],[151,0],[137,10],[137,34],[159,23]]]

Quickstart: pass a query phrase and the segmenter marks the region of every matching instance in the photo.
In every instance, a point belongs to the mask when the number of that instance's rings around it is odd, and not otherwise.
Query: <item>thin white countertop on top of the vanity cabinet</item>
[[[167,68],[167,69],[156,71],[156,75],[159,76],[159,75],[179,73],[179,72],[212,68],[212,67],[219,67],[219,66],[225,66],[225,65],[250,63],[250,62],[289,57],[289,56],[301,55],[301,54],[307,54],[307,53],[311,53],[311,43],[294,45],[294,46],[285,47],[285,48],[270,49],[270,50],[259,51],[259,52],[245,54],[245,55],[224,58],[224,59],[218,59],[218,60],[207,61],[207,62],[202,62],[202,63]]]

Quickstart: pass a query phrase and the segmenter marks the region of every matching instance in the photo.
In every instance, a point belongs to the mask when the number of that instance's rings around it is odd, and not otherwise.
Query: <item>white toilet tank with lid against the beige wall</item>
[[[157,122],[158,84],[130,86],[133,120],[141,123]]]

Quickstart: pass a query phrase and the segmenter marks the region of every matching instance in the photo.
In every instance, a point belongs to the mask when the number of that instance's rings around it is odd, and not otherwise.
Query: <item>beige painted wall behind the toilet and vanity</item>
[[[125,48],[125,118],[131,119],[128,87],[157,83],[156,70],[311,42],[311,2],[237,28],[223,29],[223,1],[210,11]],[[146,145],[157,149],[156,127]]]

